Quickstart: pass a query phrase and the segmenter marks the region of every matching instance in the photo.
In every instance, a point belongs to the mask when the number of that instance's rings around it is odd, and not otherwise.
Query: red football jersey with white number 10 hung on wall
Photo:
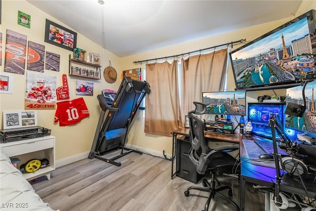
[[[57,103],[54,122],[59,121],[59,126],[69,126],[79,123],[88,117],[89,111],[82,97]]]

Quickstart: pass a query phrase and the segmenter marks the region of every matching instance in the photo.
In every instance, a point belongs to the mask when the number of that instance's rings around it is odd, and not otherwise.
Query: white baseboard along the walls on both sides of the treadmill
[[[129,149],[133,149],[133,150],[139,150],[141,152],[146,152],[146,153],[151,154],[153,156],[164,157],[163,152],[160,152],[157,150],[147,149],[147,148],[143,148],[143,147],[139,147],[139,146],[135,146],[135,145],[131,145],[131,144],[126,144],[125,147],[127,147]],[[58,160],[55,163],[55,168],[62,167],[62,166],[65,166],[67,164],[71,164],[71,163],[74,163],[76,161],[88,158],[89,153],[90,153],[90,151]],[[171,158],[171,154],[165,153],[165,156],[168,159]]]

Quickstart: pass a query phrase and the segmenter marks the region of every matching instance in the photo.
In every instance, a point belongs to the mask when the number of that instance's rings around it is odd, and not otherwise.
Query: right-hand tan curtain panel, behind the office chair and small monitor
[[[202,92],[223,91],[227,69],[227,48],[181,59],[181,114],[184,118],[202,102]]]

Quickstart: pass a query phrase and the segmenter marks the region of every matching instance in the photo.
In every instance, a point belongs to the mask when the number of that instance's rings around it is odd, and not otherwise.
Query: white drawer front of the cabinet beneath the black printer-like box
[[[9,157],[12,157],[53,147],[54,139],[51,138],[41,141],[30,141],[27,143],[16,144],[13,146],[4,146],[3,150]]]

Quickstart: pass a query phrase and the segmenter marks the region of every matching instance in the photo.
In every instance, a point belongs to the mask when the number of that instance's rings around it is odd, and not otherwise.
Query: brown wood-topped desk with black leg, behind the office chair
[[[178,129],[172,132],[172,157],[171,157],[171,179],[173,179],[174,175],[177,173],[174,172],[173,167],[173,161],[176,157],[177,152],[177,138],[179,136],[189,136],[190,128],[182,128]],[[204,131],[205,138],[212,139],[212,141],[224,141],[224,142],[230,142],[230,143],[238,143],[241,141],[244,137],[244,135],[239,134],[229,134],[229,133],[219,133],[219,132],[208,132]]]

